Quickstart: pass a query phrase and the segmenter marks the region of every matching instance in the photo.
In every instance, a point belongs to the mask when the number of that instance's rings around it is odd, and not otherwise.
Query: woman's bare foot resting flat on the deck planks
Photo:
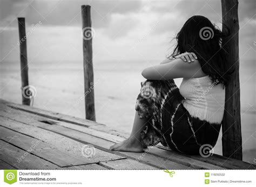
[[[120,143],[110,146],[110,150],[118,150],[120,152],[143,152],[143,145],[135,138],[127,138]]]

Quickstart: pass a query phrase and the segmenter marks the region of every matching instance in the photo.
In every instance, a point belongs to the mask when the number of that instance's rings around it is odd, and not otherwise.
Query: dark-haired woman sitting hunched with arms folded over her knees
[[[143,70],[147,81],[137,98],[131,135],[111,150],[143,152],[159,142],[185,154],[199,154],[205,145],[214,147],[230,76],[222,37],[206,17],[193,16],[186,21],[173,53],[159,65]],[[173,78],[181,77],[178,89]]]

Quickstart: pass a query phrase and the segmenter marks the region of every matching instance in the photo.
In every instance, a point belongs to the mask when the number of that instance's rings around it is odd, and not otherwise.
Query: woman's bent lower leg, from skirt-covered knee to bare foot
[[[142,89],[137,97],[136,114],[129,138],[111,146],[111,150],[125,152],[143,152],[146,146],[154,146],[158,142],[166,145],[163,138],[162,114],[166,97],[178,89],[173,80],[142,82]],[[168,123],[170,121],[166,119]],[[144,128],[145,127],[145,128]]]

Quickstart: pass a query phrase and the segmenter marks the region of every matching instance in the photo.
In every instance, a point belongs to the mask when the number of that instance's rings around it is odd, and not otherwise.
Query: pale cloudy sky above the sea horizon
[[[91,5],[93,59],[161,61],[193,15],[221,27],[220,0],[0,0],[0,61],[18,61],[17,17],[25,17],[29,61],[82,60],[81,5]],[[240,59],[255,59],[255,1],[239,1]],[[35,26],[37,25],[37,26]]]

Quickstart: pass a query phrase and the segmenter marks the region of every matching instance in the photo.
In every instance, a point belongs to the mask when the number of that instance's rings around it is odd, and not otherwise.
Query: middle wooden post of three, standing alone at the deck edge
[[[92,66],[91,6],[82,5],[82,31],[84,56],[84,97],[86,119],[96,121],[94,102],[94,83]]]

